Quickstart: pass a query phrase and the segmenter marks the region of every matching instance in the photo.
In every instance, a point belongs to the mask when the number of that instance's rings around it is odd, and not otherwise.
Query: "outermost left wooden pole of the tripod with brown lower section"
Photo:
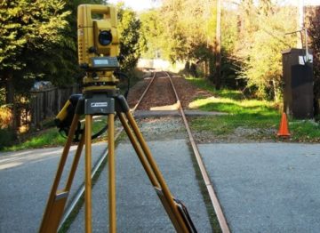
[[[66,205],[67,198],[68,198],[68,190],[62,190],[62,191],[57,191],[57,190],[60,184],[63,169],[66,165],[68,152],[76,132],[76,126],[78,121],[79,121],[79,115],[76,114],[72,120],[72,124],[70,126],[70,130],[68,133],[68,140],[63,149],[62,156],[60,158],[60,164],[58,166],[58,170],[52,184],[52,189],[48,198],[48,202],[45,207],[44,217],[39,229],[39,232],[41,233],[57,232],[57,229],[59,227],[64,206]],[[82,147],[80,148],[78,147],[77,151],[81,149]],[[81,154],[81,151],[79,151],[79,154]]]

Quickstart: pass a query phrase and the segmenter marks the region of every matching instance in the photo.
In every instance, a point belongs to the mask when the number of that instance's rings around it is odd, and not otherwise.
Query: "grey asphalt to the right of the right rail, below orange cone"
[[[320,232],[320,145],[199,146],[232,232]]]

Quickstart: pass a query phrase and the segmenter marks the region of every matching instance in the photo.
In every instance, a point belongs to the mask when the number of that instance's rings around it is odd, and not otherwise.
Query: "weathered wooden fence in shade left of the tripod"
[[[31,126],[41,127],[45,119],[57,115],[71,94],[78,92],[78,85],[32,91],[30,101]]]

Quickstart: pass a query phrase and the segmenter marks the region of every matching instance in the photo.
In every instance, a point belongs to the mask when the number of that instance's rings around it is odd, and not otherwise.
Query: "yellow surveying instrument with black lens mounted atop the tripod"
[[[81,4],[77,12],[78,60],[86,71],[84,94],[115,90],[119,67],[119,35],[116,8],[107,5]]]

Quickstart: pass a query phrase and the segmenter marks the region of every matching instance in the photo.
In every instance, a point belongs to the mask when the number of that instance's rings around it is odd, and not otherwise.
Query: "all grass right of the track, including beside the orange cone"
[[[242,92],[234,90],[217,91],[212,84],[202,78],[188,77],[187,80],[212,92],[212,97],[194,100],[189,104],[189,108],[228,113],[226,116],[192,118],[191,127],[194,131],[210,132],[216,136],[228,136],[234,134],[237,128],[242,127],[259,132],[259,135],[249,135],[249,138],[257,136],[256,139],[276,140],[275,132],[281,119],[276,102],[246,99]],[[320,141],[320,126],[313,121],[299,121],[289,118],[289,128],[292,133],[290,141]]]

